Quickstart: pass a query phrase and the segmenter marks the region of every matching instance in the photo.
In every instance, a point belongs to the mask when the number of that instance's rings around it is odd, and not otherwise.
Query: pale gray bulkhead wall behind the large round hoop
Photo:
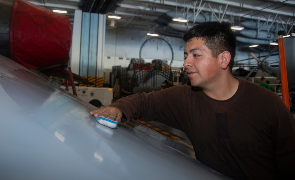
[[[105,62],[105,68],[109,69],[111,66],[117,65],[127,67],[131,58],[139,58],[141,45],[151,38],[146,35],[148,32],[150,31],[123,27],[106,29],[105,56],[107,59],[105,60],[109,63]],[[181,67],[185,42],[181,38],[160,37],[164,38],[173,49],[172,66]],[[151,62],[154,59],[166,60],[170,64],[171,48],[165,41],[153,38],[142,47],[141,58],[146,62]]]

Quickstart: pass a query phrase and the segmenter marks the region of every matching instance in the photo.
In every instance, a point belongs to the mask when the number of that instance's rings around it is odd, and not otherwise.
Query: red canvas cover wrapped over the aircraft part
[[[10,25],[10,58],[27,68],[67,63],[72,27],[68,17],[16,0]]]

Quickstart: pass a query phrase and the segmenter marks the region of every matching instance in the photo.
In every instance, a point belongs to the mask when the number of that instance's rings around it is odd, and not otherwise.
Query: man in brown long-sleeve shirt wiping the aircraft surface
[[[294,179],[294,119],[278,95],[232,76],[230,26],[205,22],[183,39],[191,86],[127,96],[90,113],[118,122],[157,120],[182,130],[197,160],[233,179]]]

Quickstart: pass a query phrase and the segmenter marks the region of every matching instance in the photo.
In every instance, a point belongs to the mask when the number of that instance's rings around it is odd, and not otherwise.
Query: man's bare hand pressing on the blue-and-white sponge
[[[90,114],[94,115],[95,117],[106,117],[117,122],[121,122],[122,119],[122,111],[117,107],[112,106],[93,110],[90,112]]]

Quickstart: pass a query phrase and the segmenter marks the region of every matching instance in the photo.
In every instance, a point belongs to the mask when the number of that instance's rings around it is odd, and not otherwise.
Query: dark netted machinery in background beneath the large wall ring
[[[159,91],[163,89],[165,80],[173,82],[173,85],[190,84],[183,67],[171,67],[160,59],[147,63],[142,58],[132,58],[127,68],[113,66],[111,74],[111,87],[114,87],[114,97],[117,98]]]

